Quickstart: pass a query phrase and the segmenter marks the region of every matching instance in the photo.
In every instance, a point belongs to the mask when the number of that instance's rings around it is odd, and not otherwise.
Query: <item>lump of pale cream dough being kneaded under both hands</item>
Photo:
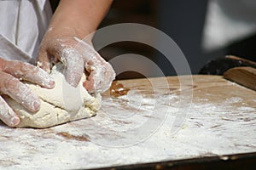
[[[61,64],[53,67],[51,76],[55,79],[55,88],[53,89],[26,83],[41,99],[40,110],[36,113],[27,111],[9,97],[5,98],[11,108],[20,116],[21,122],[18,127],[52,127],[64,122],[94,116],[100,109],[101,95],[91,96],[83,87],[85,75],[77,88],[73,88],[66,82]]]

